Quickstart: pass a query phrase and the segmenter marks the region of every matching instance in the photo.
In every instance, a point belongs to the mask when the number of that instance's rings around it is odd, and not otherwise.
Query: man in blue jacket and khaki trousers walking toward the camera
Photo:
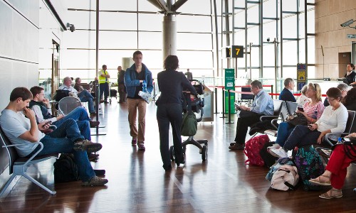
[[[138,93],[143,87],[147,87],[147,92],[153,89],[152,72],[142,63],[142,53],[133,53],[134,64],[125,72],[125,86],[127,92],[127,105],[129,109],[130,135],[132,136],[132,146],[138,145],[140,150],[145,150],[145,116],[146,105]],[[138,131],[136,126],[136,116],[138,110]]]

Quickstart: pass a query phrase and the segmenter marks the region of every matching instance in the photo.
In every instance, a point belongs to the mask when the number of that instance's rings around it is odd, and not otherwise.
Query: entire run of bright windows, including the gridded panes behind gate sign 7
[[[228,65],[228,60],[223,58],[224,53],[222,51],[225,50],[222,48],[226,47],[226,33],[229,33],[229,45],[244,45],[246,48],[246,45],[253,43],[254,46],[251,55],[244,55],[244,58],[238,59],[237,66],[241,70],[239,75],[244,77],[244,74],[241,74],[244,70],[249,73],[249,58],[251,56],[251,67],[253,67],[251,77],[253,79],[273,78],[274,45],[272,42],[274,38],[278,38],[278,72],[283,69],[281,78],[290,76],[288,75],[290,70],[295,71],[295,68],[288,66],[295,66],[298,62],[306,62],[305,51],[308,51],[308,64],[311,65],[308,67],[308,76],[315,76],[315,73],[310,73],[314,72],[313,64],[315,63],[314,35],[308,35],[308,48],[306,49],[304,40],[305,30],[307,30],[306,33],[315,33],[315,11],[314,6],[309,5],[307,11],[304,11],[304,1],[261,0],[258,4],[255,4],[257,1],[247,0],[216,1],[217,26],[215,26],[214,16],[211,16],[214,15],[214,9],[211,8],[211,6],[214,6],[212,0],[187,1],[178,9],[179,15],[175,17],[177,23],[177,55],[179,56],[181,70],[190,68],[197,76],[212,76],[212,70],[214,67],[216,69],[215,57],[217,52],[219,52],[219,70],[228,66],[235,67],[234,60],[230,60],[231,62]],[[225,9],[226,3],[229,5],[228,11]],[[245,8],[246,3],[247,8]],[[314,1],[308,0],[308,3],[314,3]],[[88,75],[90,78],[91,75],[95,75],[95,73],[87,71],[95,70],[95,4],[96,1],[94,0],[66,1],[67,18],[70,23],[75,24],[77,30],[73,33],[70,31],[63,33],[61,68],[71,70],[73,77],[77,75],[76,72],[78,72],[78,75],[90,72],[90,75]],[[261,4],[263,4],[263,13],[261,13]],[[233,6],[235,6],[235,9]],[[83,11],[76,11],[75,9]],[[285,12],[282,15],[283,17],[279,17],[281,11]],[[307,29],[304,28],[305,13],[308,16]],[[247,15],[247,18],[245,18],[245,15]],[[120,65],[122,57],[132,57],[133,51],[140,49],[144,52],[144,62],[148,63],[150,69],[156,73],[154,75],[157,75],[157,72],[162,70],[163,61],[163,16],[164,14],[159,13],[159,9],[147,0],[101,0],[100,64],[105,63],[110,67],[109,69],[115,71],[117,65]],[[226,16],[229,20],[227,22]],[[261,16],[264,19],[260,26],[248,25],[247,29],[243,29],[246,22],[259,23]],[[211,25],[213,28],[211,28]],[[226,25],[229,26],[229,32],[226,32]],[[283,32],[281,32],[281,25]],[[219,40],[218,50],[215,50],[215,28],[219,32],[217,36]],[[260,35],[261,32],[263,32],[262,35]],[[213,36],[211,33],[213,33]],[[232,43],[233,34],[234,43]],[[261,43],[260,38],[262,38],[263,43]],[[267,38],[270,38],[271,43],[267,43]],[[261,52],[261,45],[263,45],[263,52]],[[283,55],[281,58],[282,47]],[[246,50],[249,51],[249,48],[244,51],[246,52]],[[261,61],[263,61],[262,65],[260,64]],[[293,73],[295,73],[294,71]],[[261,73],[263,73],[263,76],[260,76]],[[272,80],[271,83],[273,82]]]

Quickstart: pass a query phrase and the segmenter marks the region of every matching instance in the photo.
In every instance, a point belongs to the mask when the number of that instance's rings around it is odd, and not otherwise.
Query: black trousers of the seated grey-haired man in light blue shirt
[[[248,116],[237,119],[235,142],[245,144],[248,126],[260,121],[261,114],[248,114]]]

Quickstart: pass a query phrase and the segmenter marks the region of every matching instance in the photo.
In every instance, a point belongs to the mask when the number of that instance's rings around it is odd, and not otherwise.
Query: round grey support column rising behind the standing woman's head
[[[163,60],[168,55],[177,55],[177,23],[175,16],[169,14],[163,17],[162,36]]]

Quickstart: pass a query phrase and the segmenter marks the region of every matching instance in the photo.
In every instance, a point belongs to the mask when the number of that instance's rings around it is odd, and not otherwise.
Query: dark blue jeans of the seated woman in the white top
[[[297,125],[288,137],[283,149],[286,151],[292,150],[295,146],[302,147],[317,143],[320,136],[320,131],[311,131],[308,126]]]

